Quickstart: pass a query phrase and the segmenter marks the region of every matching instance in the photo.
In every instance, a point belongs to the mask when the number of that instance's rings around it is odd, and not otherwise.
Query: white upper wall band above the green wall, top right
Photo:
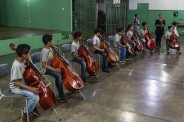
[[[149,10],[184,10],[184,0],[129,0],[129,9],[137,10],[137,3],[149,3]]]

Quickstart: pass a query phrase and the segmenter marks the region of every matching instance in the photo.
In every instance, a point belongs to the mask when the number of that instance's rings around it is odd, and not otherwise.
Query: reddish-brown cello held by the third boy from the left
[[[78,49],[78,54],[81,57],[84,57],[84,61],[86,62],[86,71],[89,74],[96,74],[98,70],[98,64],[95,63],[95,60],[92,58],[92,55],[83,44]]]

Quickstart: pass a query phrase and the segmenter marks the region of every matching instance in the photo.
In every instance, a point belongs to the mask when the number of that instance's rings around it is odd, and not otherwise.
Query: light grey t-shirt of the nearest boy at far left
[[[25,80],[23,78],[24,71],[25,71],[25,65],[19,62],[17,59],[15,59],[11,67],[11,78],[10,78],[10,84],[9,84],[9,87],[13,93],[16,93],[16,94],[20,93],[20,89],[18,86],[14,84],[14,80],[18,80],[21,83],[25,84]]]

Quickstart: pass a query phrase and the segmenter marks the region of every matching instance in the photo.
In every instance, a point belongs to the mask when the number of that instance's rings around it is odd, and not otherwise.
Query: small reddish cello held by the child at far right
[[[180,46],[179,42],[178,42],[178,36],[173,33],[172,35],[170,35],[170,42],[169,42],[169,47],[172,49],[176,49]]]

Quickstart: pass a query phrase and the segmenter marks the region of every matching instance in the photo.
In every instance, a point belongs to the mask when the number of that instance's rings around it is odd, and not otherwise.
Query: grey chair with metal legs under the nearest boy
[[[0,65],[0,81],[5,78],[6,76],[9,76],[10,74],[10,71],[8,69],[8,65],[7,64],[1,64]],[[2,82],[2,81],[1,81]],[[24,98],[25,101],[26,101],[26,108],[28,110],[28,106],[27,106],[27,99],[26,97],[22,96],[22,95],[17,95],[17,94],[14,94],[11,92],[11,90],[9,88],[1,91],[1,88],[0,88],[0,100],[5,97],[5,98],[11,98],[11,108],[13,107],[13,99],[14,98]],[[28,111],[26,112],[27,113],[27,121],[29,122],[29,113]]]

